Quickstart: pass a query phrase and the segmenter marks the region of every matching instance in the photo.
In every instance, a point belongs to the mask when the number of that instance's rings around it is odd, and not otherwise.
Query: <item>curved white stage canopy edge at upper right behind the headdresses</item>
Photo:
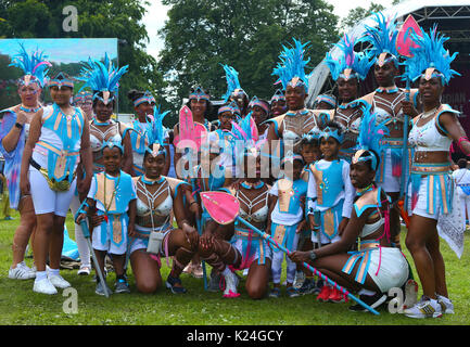
[[[396,16],[398,23],[403,23],[408,14],[412,14],[415,20],[420,23],[425,20],[470,20],[470,0],[407,0],[403,1],[390,9],[383,10],[385,16]],[[462,26],[458,35],[467,42],[470,41],[470,25],[469,22],[462,22],[467,25]],[[366,26],[373,26],[372,16],[360,21],[356,26],[351,28],[348,36],[359,38],[365,33]],[[467,28],[466,28],[467,27]],[[340,50],[334,46],[330,50],[333,57],[338,57]],[[312,106],[317,95],[321,92],[327,79],[329,78],[330,69],[323,61],[318,64],[312,72],[309,78],[307,105]]]

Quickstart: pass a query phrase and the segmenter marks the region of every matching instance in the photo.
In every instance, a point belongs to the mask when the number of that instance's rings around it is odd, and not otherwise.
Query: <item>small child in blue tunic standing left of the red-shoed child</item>
[[[304,209],[302,197],[307,194],[308,183],[307,180],[301,178],[304,167],[304,159],[298,154],[288,153],[281,162],[282,169],[284,170],[284,178],[276,181],[269,193],[275,195],[276,205],[272,204],[270,216],[270,230],[274,240],[278,244],[282,244],[290,250],[297,249],[300,233],[304,229]],[[280,281],[282,272],[283,252],[277,247],[272,247],[272,282],[274,288],[269,293],[270,297],[280,296]],[[289,297],[298,296],[298,291],[292,284],[295,277],[295,262],[292,262],[285,257],[287,268],[287,292]]]

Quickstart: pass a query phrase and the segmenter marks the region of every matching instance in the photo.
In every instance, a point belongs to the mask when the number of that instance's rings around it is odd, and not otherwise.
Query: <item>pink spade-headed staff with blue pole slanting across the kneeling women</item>
[[[240,204],[237,200],[237,197],[232,196],[231,194],[224,193],[224,192],[202,192],[201,193],[201,201],[204,207],[206,208],[207,213],[211,215],[211,217],[220,224],[229,224],[233,221],[238,221],[243,223],[245,227],[250,228],[250,230],[253,230],[257,234],[259,234],[263,239],[265,239],[267,242],[269,242],[272,246],[279,248],[287,255],[290,255],[289,249],[287,249],[284,246],[278,244],[269,234],[261,231],[259,229],[253,227],[251,223],[245,221],[244,219],[239,217],[240,211]],[[360,300],[359,298],[356,298],[354,295],[352,295],[350,292],[347,292],[344,287],[339,285],[338,283],[331,281],[329,278],[327,278],[325,274],[322,274],[320,271],[312,267],[307,262],[302,264],[306,269],[310,270],[314,274],[317,274],[325,281],[327,281],[329,284],[336,287],[339,291],[341,291],[343,294],[347,295],[348,298],[353,299],[373,314],[379,316],[380,313],[371,308],[369,305]]]

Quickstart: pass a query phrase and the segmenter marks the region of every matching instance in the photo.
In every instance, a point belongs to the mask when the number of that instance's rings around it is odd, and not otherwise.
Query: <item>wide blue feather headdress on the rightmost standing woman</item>
[[[442,83],[447,85],[454,75],[460,76],[459,73],[450,68],[450,63],[457,56],[457,52],[450,55],[449,51],[444,48],[444,42],[448,37],[437,33],[437,26],[434,24],[429,34],[422,30],[422,36],[411,34],[411,39],[419,46],[411,48],[414,54],[405,61],[407,67],[404,78],[415,81],[425,70],[424,77],[430,79],[433,76],[442,78]]]

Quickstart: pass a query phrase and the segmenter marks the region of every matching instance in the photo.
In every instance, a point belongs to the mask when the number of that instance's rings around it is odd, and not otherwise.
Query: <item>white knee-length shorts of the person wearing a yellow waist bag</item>
[[[54,192],[49,188],[48,181],[42,174],[29,166],[29,184],[36,215],[53,213],[60,217],[67,216],[75,194],[76,179],[72,182],[68,191]]]

